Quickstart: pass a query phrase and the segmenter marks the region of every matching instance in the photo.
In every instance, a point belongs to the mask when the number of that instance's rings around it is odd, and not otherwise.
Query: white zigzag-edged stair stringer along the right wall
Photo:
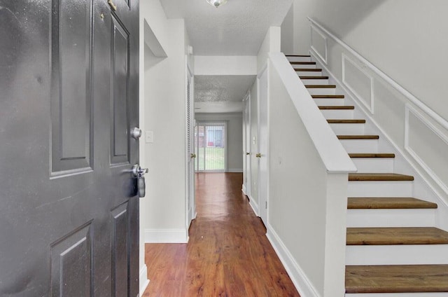
[[[370,116],[370,113],[366,111],[366,108],[364,104],[360,102],[360,99],[350,92],[350,90],[348,90],[339,79],[332,74],[328,67],[326,67],[312,50],[309,51],[309,55],[311,55],[311,61],[316,62],[316,67],[322,69],[323,75],[328,76],[328,82],[332,85],[336,85],[336,90],[339,94],[345,95],[345,104],[355,106],[354,116],[367,119],[365,133],[379,135],[379,151],[395,153],[395,172],[405,172],[406,174],[414,176],[412,189],[414,197],[437,203],[438,207],[435,211],[435,226],[442,230],[448,230],[448,202],[442,199],[444,195],[442,195],[441,190],[431,185],[431,182],[425,177],[425,174],[423,174],[423,169],[421,169],[419,165],[416,165],[414,160],[406,156],[405,152],[402,151],[398,144],[395,144],[387,132],[381,129],[374,118]],[[430,172],[425,173],[430,175]]]

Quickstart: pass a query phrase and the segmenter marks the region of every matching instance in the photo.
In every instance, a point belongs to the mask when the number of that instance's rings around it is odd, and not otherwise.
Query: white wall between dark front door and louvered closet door
[[[141,127],[154,135],[153,143],[141,144],[141,165],[149,168],[146,198],[141,203],[141,232],[144,242],[186,242],[188,36],[183,20],[167,20],[159,0],[142,1],[141,18],[148,22],[167,55],[155,57],[144,46],[141,61],[144,63]],[[193,61],[189,63],[193,67]]]

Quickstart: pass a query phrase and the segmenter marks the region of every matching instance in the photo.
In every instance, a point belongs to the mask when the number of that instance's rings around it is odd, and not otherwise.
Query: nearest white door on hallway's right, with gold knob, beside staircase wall
[[[265,226],[267,226],[267,199],[269,190],[267,185],[267,153],[268,153],[268,137],[269,130],[267,126],[267,67],[258,77],[258,199],[260,218]]]

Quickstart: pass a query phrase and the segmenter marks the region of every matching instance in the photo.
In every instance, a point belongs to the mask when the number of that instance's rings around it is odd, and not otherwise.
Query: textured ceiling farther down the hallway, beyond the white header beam
[[[195,76],[197,112],[236,112],[256,76]]]

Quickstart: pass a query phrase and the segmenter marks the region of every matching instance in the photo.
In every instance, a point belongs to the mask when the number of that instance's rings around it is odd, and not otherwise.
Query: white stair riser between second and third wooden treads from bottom
[[[433,227],[434,209],[347,209],[347,227]]]

